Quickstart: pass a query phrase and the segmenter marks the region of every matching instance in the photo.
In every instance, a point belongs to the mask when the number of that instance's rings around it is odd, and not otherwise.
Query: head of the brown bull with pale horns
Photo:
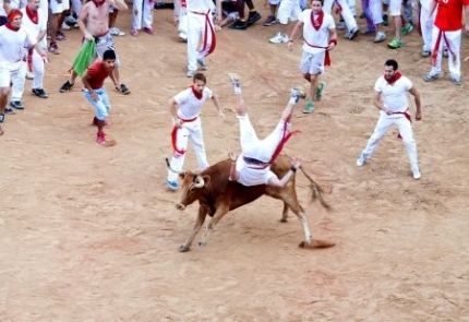
[[[183,211],[188,205],[201,199],[206,186],[211,181],[211,177],[191,171],[180,174],[179,177],[182,180],[181,201],[176,204],[176,208]]]

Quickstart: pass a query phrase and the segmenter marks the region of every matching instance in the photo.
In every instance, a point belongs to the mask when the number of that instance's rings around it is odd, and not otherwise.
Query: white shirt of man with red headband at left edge
[[[0,27],[0,65],[14,63],[26,57],[27,48],[36,45],[36,39],[32,38],[24,27],[17,32],[5,26]]]

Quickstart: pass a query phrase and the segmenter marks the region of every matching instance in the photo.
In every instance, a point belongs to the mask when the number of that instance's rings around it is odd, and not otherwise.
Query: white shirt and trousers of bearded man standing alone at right
[[[362,157],[364,160],[373,156],[380,141],[387,131],[393,127],[397,127],[406,146],[410,168],[413,174],[419,172],[417,144],[413,139],[410,120],[408,119],[410,116],[406,115],[409,109],[408,92],[412,86],[412,82],[406,76],[400,76],[393,84],[389,84],[384,76],[377,79],[374,85],[374,91],[381,93],[384,107],[393,114],[387,115],[384,111],[380,111],[380,119],[373,134],[370,136],[365,148],[362,151]]]

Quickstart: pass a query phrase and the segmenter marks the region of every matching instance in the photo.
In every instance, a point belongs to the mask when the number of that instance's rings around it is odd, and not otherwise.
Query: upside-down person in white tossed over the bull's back
[[[234,73],[229,73],[228,77],[231,81],[237,97],[236,114],[240,124],[241,143],[241,154],[239,156],[232,152],[229,153],[231,158],[229,180],[248,187],[257,184],[285,187],[301,166],[301,163],[297,158],[293,158],[290,170],[282,178],[278,178],[270,170],[270,165],[280,154],[285,143],[294,134],[294,132],[289,131],[291,115],[296,104],[300,98],[304,98],[304,93],[299,88],[291,90],[290,99],[281,114],[277,127],[265,139],[260,140],[246,112],[241,94],[240,77]]]

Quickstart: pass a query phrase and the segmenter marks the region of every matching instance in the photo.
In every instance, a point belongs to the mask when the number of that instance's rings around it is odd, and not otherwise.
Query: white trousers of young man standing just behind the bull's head
[[[177,130],[176,134],[176,146],[178,150],[185,151],[188,148],[188,143],[191,142],[192,147],[195,152],[195,157],[197,159],[197,165],[201,170],[208,167],[207,156],[205,153],[204,136],[202,132],[201,118],[192,122],[183,123],[182,128]],[[182,166],[184,165],[185,153],[175,153],[171,158],[171,169],[168,170],[168,180],[178,180],[178,172],[182,171]]]

